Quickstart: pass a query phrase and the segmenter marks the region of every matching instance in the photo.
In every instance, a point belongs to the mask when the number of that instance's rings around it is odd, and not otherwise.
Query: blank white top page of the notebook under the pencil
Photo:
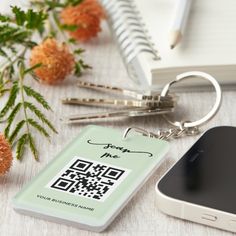
[[[168,33],[175,0],[135,0],[162,58],[152,70],[236,65],[236,1],[193,0],[182,41],[171,50]]]

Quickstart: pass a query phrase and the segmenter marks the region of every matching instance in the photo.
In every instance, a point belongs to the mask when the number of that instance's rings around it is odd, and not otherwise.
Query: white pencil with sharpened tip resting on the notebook
[[[188,15],[190,12],[192,0],[178,0],[173,23],[170,29],[170,48],[173,49],[181,40]]]

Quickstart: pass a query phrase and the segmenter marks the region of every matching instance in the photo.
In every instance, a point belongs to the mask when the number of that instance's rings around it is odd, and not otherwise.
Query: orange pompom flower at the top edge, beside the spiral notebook
[[[77,6],[63,9],[60,17],[63,24],[78,26],[77,30],[69,32],[72,38],[87,41],[101,31],[100,22],[105,13],[97,0],[84,0]]]

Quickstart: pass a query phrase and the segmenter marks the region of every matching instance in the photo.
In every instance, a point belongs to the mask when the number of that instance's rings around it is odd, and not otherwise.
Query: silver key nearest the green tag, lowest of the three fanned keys
[[[90,113],[83,115],[72,115],[61,119],[67,124],[79,123],[82,121],[89,121],[91,119],[104,119],[104,118],[115,118],[115,117],[137,117],[137,116],[147,116],[147,115],[161,115],[173,112],[174,108],[154,108],[154,109],[135,109],[135,110],[121,110],[112,112],[100,112],[100,113]]]

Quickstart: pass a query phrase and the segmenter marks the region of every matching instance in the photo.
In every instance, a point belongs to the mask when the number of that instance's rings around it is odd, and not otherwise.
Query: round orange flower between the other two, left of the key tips
[[[31,51],[30,65],[41,63],[34,70],[35,75],[47,84],[61,82],[74,69],[75,59],[66,44],[58,44],[53,38],[48,38]]]

